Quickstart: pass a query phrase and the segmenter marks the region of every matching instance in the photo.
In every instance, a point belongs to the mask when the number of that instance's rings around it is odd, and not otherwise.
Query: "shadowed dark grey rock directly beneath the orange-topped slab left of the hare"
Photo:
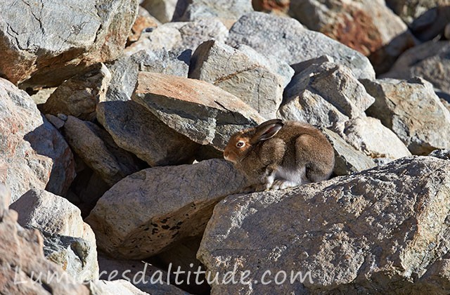
[[[150,166],[191,164],[199,145],[134,101],[98,104],[97,118],[115,143]]]

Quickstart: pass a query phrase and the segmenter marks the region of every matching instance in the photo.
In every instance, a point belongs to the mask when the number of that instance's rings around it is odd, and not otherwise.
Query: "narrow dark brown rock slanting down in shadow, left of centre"
[[[110,134],[96,124],[69,116],[63,133],[75,154],[108,185],[140,170],[134,155],[118,147]]]

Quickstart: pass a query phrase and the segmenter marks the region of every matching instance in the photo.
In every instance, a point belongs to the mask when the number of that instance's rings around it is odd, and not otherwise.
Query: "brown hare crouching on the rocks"
[[[240,141],[244,147],[236,146]],[[334,167],[334,150],[323,133],[293,121],[270,120],[233,134],[224,156],[245,173],[250,184],[262,185],[257,190],[323,181]]]

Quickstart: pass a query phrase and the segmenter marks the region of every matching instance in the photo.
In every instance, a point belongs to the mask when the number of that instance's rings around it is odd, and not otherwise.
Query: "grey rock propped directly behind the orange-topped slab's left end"
[[[106,93],[106,101],[130,100],[136,87],[138,72],[158,72],[172,74],[179,77],[188,77],[191,51],[175,49],[166,51],[141,50],[131,56],[123,55],[114,63],[110,63],[108,69],[112,79]]]

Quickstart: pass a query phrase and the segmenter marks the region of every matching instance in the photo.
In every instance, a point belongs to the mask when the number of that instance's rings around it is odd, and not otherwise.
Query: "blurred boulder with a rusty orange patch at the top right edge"
[[[290,15],[302,25],[370,56],[376,72],[386,72],[415,40],[384,1],[291,1]]]

